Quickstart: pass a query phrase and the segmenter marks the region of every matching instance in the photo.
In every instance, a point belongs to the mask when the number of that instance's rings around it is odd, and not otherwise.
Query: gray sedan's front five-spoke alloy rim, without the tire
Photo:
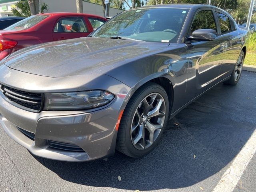
[[[137,107],[131,126],[133,146],[138,150],[150,147],[158,138],[166,118],[166,104],[159,93],[146,96]]]

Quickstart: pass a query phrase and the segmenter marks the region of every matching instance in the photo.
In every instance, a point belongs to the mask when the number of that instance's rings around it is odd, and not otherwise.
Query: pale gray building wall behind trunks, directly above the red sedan
[[[40,2],[46,2],[49,6],[48,12],[72,12],[76,13],[76,0],[40,0]],[[83,2],[84,13],[104,16],[102,5]],[[110,8],[110,16],[122,12],[123,10]]]

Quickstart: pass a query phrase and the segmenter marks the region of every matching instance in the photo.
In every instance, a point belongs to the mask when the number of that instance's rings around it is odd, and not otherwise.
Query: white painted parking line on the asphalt
[[[242,150],[234,158],[231,166],[226,170],[213,192],[232,192],[255,152],[256,130],[254,130]]]

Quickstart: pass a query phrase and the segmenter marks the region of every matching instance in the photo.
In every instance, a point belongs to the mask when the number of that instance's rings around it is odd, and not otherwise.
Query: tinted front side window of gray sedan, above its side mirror
[[[216,30],[216,24],[211,10],[202,10],[196,13],[191,26],[191,32],[198,29]]]

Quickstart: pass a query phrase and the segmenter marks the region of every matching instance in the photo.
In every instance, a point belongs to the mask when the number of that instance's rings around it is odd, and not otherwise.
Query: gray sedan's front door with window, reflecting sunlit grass
[[[198,29],[212,29],[219,34],[216,15],[211,9],[199,9],[194,15],[189,35]],[[212,41],[187,41],[189,51],[188,100],[192,100],[218,81],[224,43],[218,36]]]

